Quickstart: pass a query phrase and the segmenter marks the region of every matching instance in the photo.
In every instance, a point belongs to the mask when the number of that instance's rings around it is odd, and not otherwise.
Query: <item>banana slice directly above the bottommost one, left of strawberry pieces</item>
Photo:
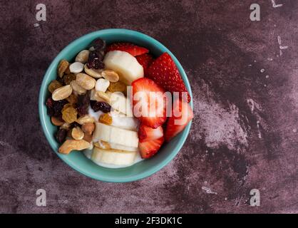
[[[103,140],[126,147],[138,147],[138,133],[133,130],[115,128],[111,125],[96,123],[93,141]]]

